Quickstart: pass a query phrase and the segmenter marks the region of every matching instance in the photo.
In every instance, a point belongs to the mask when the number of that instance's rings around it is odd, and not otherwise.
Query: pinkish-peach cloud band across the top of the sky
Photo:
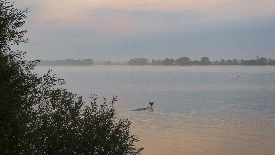
[[[130,32],[140,23],[145,23],[151,28],[162,26],[171,27],[182,24],[183,21],[163,23],[142,17],[134,19],[130,16],[119,13],[106,14],[103,17],[91,17],[91,10],[105,8],[107,11],[123,9],[126,11],[134,10],[158,10],[158,11],[177,11],[177,10],[196,10],[205,13],[219,14],[225,13],[224,18],[239,18],[240,16],[255,16],[265,13],[275,12],[274,0],[21,0],[21,3],[35,4],[38,9],[33,13],[33,18],[39,19],[34,25],[41,28],[51,28],[60,24],[69,26],[96,26],[99,29],[110,32]],[[220,17],[221,18],[221,17]],[[217,19],[217,20],[222,20]],[[59,21],[51,23],[50,21]],[[185,20],[186,23],[187,20]],[[188,21],[197,23],[200,21]],[[162,25],[162,26],[160,26]],[[144,25],[143,25],[144,26]]]

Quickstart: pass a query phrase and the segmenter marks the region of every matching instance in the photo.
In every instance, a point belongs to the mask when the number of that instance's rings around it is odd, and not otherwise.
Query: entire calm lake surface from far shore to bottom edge
[[[274,66],[38,66],[89,101],[118,96],[146,154],[275,153]],[[131,111],[148,107],[154,111]]]

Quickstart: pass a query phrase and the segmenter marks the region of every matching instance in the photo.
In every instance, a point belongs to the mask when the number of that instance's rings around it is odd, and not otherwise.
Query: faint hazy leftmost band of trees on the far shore
[[[110,61],[111,62],[111,61]],[[91,66],[95,65],[93,59],[83,59],[83,60],[41,60],[38,65],[43,66]]]

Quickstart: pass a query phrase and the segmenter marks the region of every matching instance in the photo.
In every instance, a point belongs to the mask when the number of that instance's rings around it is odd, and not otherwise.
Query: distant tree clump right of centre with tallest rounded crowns
[[[176,60],[174,59],[168,59],[165,58],[162,61],[158,59],[155,61],[155,59],[152,60],[151,65],[180,65],[180,66],[188,66],[188,65],[211,65],[211,62],[209,61],[208,57],[201,57],[201,60],[191,60],[188,57],[181,57]]]

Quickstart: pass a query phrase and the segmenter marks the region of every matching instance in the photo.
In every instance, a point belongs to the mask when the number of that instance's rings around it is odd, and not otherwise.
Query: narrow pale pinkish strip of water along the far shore
[[[37,66],[40,71],[183,71],[183,72],[239,72],[239,73],[275,73],[275,66]]]

